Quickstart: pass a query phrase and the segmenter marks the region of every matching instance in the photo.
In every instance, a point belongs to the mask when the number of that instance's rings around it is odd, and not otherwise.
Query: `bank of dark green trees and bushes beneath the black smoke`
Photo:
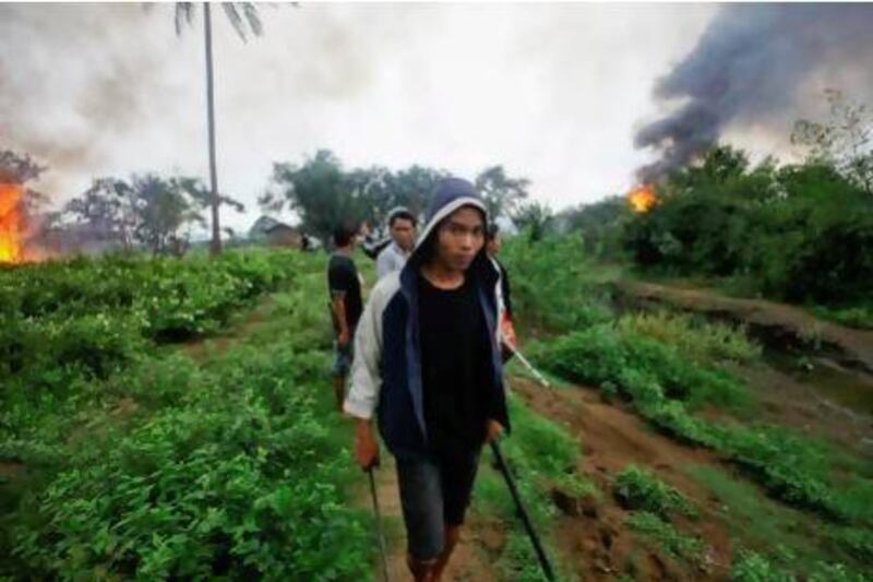
[[[799,163],[714,143],[649,185],[657,204],[635,214],[620,197],[564,211],[589,256],[642,276],[692,280],[733,295],[810,307],[873,328],[873,109],[827,91],[830,117],[800,120]]]

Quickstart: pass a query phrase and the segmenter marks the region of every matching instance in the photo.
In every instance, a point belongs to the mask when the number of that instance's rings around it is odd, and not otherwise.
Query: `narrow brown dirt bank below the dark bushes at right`
[[[737,299],[702,289],[686,289],[620,281],[615,290],[625,301],[637,305],[667,304],[689,311],[748,323],[764,341],[818,344],[823,353],[840,364],[873,373],[873,332],[853,330],[811,316],[799,307],[763,299]]]

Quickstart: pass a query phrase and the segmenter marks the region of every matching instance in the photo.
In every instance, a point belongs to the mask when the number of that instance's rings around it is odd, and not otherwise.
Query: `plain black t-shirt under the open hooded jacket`
[[[476,288],[434,287],[418,277],[421,381],[428,441],[435,453],[468,455],[485,441],[491,345]]]

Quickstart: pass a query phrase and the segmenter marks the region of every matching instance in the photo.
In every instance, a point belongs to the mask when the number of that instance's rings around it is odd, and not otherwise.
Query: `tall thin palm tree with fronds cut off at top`
[[[176,34],[182,33],[182,25],[189,25],[194,16],[193,2],[177,2],[176,3]],[[263,32],[261,19],[258,15],[258,9],[253,2],[222,2],[222,8],[225,11],[230,24],[237,34],[247,40],[247,31],[255,36],[260,36]],[[203,32],[206,43],[206,109],[207,109],[207,126],[208,126],[208,140],[210,140],[210,187],[212,190],[212,242],[210,244],[210,251],[213,254],[222,252],[222,228],[218,222],[218,206],[222,199],[218,195],[218,170],[215,163],[215,100],[213,90],[213,58],[212,58],[212,11],[210,10],[210,2],[203,3]]]

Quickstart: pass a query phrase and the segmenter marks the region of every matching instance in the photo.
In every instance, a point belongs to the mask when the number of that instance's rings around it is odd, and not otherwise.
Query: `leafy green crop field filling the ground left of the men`
[[[0,272],[0,575],[369,572],[313,300],[324,262],[255,250]]]

